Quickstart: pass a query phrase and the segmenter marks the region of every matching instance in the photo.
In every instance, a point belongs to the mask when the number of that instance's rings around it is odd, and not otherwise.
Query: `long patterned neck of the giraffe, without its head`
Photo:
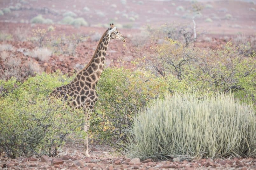
[[[83,68],[75,77],[73,82],[85,81],[86,84],[91,84],[92,88],[95,88],[100,75],[103,71],[107,46],[110,41],[110,34],[108,30],[102,35],[99,44],[91,58],[90,62]]]

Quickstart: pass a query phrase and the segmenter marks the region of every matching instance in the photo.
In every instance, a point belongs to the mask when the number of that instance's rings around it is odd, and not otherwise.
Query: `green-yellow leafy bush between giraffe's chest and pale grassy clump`
[[[97,84],[98,101],[91,121],[93,138],[118,149],[126,141],[126,129],[133,117],[143,110],[151,99],[161,97],[167,90],[163,79],[151,79],[142,71],[107,68]]]

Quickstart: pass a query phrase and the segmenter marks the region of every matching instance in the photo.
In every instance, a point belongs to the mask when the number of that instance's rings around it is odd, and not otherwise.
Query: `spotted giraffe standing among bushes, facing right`
[[[103,71],[107,46],[111,39],[122,40],[125,42],[124,36],[121,35],[116,27],[114,27],[113,23],[110,23],[110,28],[108,28],[102,35],[90,62],[80,72],[78,72],[71,83],[55,88],[50,94],[50,96],[55,98],[68,100],[68,104],[73,108],[82,107],[84,109],[84,131],[87,134],[84,141],[84,154],[87,157],[90,156],[88,152],[88,129],[90,127],[89,118],[98,98],[96,85]]]

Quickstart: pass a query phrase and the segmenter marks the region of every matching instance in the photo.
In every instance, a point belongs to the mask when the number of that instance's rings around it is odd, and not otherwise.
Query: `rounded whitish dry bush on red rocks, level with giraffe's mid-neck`
[[[52,55],[52,51],[48,48],[41,47],[31,51],[31,57],[38,58],[40,61],[48,61]]]

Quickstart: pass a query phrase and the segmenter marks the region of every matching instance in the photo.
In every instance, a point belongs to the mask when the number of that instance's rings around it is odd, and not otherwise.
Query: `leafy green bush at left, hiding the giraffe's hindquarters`
[[[24,83],[0,80],[0,150],[12,158],[51,156],[68,134],[83,135],[83,111],[47,97],[54,87],[70,80],[58,72],[30,77]]]

